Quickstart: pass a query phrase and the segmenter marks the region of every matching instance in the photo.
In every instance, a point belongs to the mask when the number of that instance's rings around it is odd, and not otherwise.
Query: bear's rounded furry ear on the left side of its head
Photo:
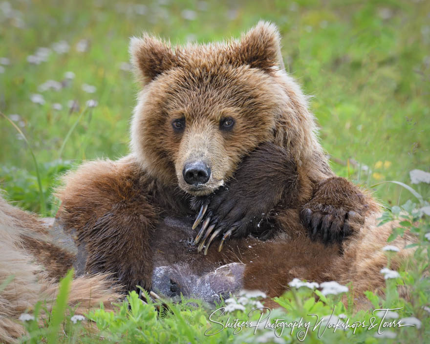
[[[131,64],[144,84],[177,64],[170,44],[146,33],[142,38],[131,38],[129,52]]]

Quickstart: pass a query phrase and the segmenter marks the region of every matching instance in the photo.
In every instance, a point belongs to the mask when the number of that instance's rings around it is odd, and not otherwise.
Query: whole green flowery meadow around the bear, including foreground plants
[[[403,307],[400,317],[420,319],[420,328],[398,329],[393,332],[398,337],[384,340],[424,341],[430,334],[430,282],[422,278],[429,272],[430,221],[424,214],[426,207],[430,213],[430,188],[428,183],[412,184],[410,171],[430,171],[428,0],[0,0],[4,197],[53,216],[59,204],[52,194],[62,173],[86,159],[128,153],[138,90],[130,72],[129,37],[150,31],[174,44],[204,43],[238,37],[259,19],[280,28],[286,69],[310,95],[333,170],[372,190],[386,207],[384,219],[403,221],[395,235],[408,228],[419,237],[414,263],[399,271],[398,278],[387,279],[387,297],[369,293],[368,298],[375,307]],[[411,301],[396,298],[396,284],[412,286]],[[288,310],[284,316],[291,321],[312,312],[325,316],[333,305],[337,316],[372,316],[345,308],[340,296],[315,301],[317,292],[302,287],[285,294],[279,300]],[[245,314],[250,304],[235,312]],[[281,339],[258,339],[245,330],[234,335],[231,329],[204,336],[210,308],[193,305],[171,305],[173,314],[159,318],[152,305],[130,295],[114,315],[99,310],[86,316],[97,321],[103,336],[98,340],[109,343],[297,341],[287,331]],[[61,331],[57,324],[52,330],[49,319],[42,330],[30,322],[32,334],[23,341],[58,340],[43,332],[49,330],[60,331],[56,333],[65,343],[91,342],[94,334],[79,322],[75,326],[68,313]],[[322,338],[313,333],[306,342],[378,340],[374,331],[357,331]]]

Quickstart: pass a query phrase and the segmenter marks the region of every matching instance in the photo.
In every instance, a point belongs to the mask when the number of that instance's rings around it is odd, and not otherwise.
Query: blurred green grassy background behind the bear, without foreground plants
[[[60,173],[128,152],[138,89],[130,36],[147,30],[174,44],[210,42],[238,37],[259,19],[280,28],[285,66],[312,96],[335,172],[370,187],[409,184],[410,170],[429,171],[429,1],[0,0],[6,197],[51,215]],[[375,191],[387,204],[410,197],[393,184]]]

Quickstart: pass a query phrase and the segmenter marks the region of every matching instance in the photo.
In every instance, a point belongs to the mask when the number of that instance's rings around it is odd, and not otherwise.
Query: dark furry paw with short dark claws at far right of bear
[[[352,210],[324,204],[305,204],[300,212],[301,220],[314,241],[324,244],[341,243],[354,233],[355,226],[364,224],[364,216]]]

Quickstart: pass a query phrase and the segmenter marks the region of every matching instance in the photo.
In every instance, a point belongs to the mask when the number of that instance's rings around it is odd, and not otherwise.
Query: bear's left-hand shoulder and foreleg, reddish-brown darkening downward
[[[149,239],[161,211],[149,197],[155,183],[130,159],[86,163],[65,183],[58,217],[86,253],[85,272],[149,289]]]

